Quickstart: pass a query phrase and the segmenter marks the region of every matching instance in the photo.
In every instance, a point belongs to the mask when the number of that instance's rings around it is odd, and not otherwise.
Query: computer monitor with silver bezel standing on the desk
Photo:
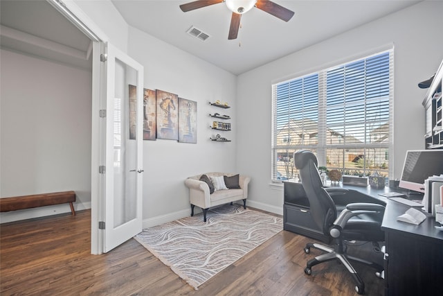
[[[443,150],[408,150],[399,187],[424,193],[424,180],[443,174]]]

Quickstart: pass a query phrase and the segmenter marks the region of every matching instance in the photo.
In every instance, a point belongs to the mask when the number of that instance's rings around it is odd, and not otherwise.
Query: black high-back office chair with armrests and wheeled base
[[[337,259],[356,281],[356,292],[363,294],[365,284],[349,260],[358,261],[376,268],[378,270],[376,273],[377,277],[381,277],[383,268],[377,263],[346,254],[347,246],[345,241],[369,241],[374,242],[375,246],[378,245],[378,242],[384,241],[381,220],[385,207],[377,203],[350,203],[344,207],[337,217],[336,204],[327,190],[323,188],[317,171],[317,158],[314,153],[307,150],[300,150],[294,153],[294,164],[299,170],[300,180],[309,200],[310,213],[314,222],[319,229],[323,229],[323,234],[329,236],[330,241],[334,243],[334,248],[318,243],[308,243],[306,245],[305,252],[307,254],[309,254],[311,247],[323,250],[326,254],[321,254],[307,261],[305,273],[311,275],[312,266]],[[350,192],[352,193],[352,191]]]

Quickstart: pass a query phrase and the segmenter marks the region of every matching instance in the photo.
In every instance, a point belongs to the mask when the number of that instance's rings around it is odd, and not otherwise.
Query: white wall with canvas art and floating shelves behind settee
[[[198,42],[198,40],[197,40]],[[145,67],[145,88],[161,89],[197,101],[197,143],[157,139],[144,141],[143,218],[171,220],[190,214],[186,177],[200,173],[237,171],[236,76],[166,44],[136,28],[129,28],[128,54]],[[228,102],[224,110],[209,105]],[[219,132],[228,143],[210,141],[210,113],[229,114],[233,130]],[[163,218],[161,218],[164,216]],[[154,222],[154,223],[156,223]],[[149,225],[145,221],[145,225]]]

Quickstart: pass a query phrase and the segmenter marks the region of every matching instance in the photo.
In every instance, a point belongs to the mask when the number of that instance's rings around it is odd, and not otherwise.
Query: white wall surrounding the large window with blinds
[[[251,175],[250,204],[282,214],[271,183],[271,84],[395,45],[395,177],[408,149],[424,149],[426,89],[443,59],[442,1],[425,1],[271,62],[237,79],[237,170]],[[253,106],[253,114],[251,114]],[[260,119],[260,120],[257,120]],[[248,123],[255,122],[253,128]]]

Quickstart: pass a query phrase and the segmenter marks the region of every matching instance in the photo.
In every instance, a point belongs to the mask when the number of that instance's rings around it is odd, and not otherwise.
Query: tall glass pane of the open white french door
[[[137,71],[116,59],[114,98],[114,228],[136,218]]]

